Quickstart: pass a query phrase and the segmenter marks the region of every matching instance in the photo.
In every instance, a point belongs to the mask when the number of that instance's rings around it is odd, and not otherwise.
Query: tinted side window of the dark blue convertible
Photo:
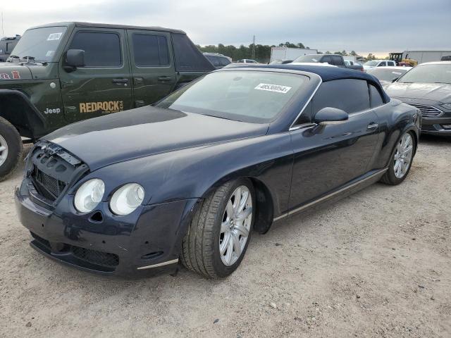
[[[325,107],[342,109],[349,114],[366,111],[370,108],[368,84],[354,79],[323,82],[312,104],[313,116]]]

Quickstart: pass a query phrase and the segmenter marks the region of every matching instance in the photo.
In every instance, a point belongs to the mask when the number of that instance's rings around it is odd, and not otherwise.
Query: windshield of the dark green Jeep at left
[[[27,56],[37,61],[53,61],[55,51],[58,48],[67,27],[42,27],[27,30],[13,50],[13,55],[19,58]],[[11,58],[11,61],[14,61]]]

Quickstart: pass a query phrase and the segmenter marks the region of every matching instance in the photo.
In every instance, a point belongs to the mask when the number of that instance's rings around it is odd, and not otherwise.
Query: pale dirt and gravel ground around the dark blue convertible
[[[0,337],[451,337],[451,141],[375,184],[254,233],[226,280],[118,280],[39,255],[0,183]]]

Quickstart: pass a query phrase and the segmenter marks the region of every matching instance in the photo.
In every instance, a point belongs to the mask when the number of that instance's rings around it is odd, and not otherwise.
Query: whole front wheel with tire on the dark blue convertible
[[[245,256],[254,225],[255,192],[245,178],[218,187],[194,215],[180,259],[206,278],[227,277]]]

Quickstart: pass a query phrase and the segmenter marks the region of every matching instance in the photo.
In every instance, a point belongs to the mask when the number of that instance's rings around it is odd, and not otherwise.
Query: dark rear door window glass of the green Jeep
[[[168,42],[161,35],[132,35],[133,56],[138,66],[155,67],[169,65]]]

